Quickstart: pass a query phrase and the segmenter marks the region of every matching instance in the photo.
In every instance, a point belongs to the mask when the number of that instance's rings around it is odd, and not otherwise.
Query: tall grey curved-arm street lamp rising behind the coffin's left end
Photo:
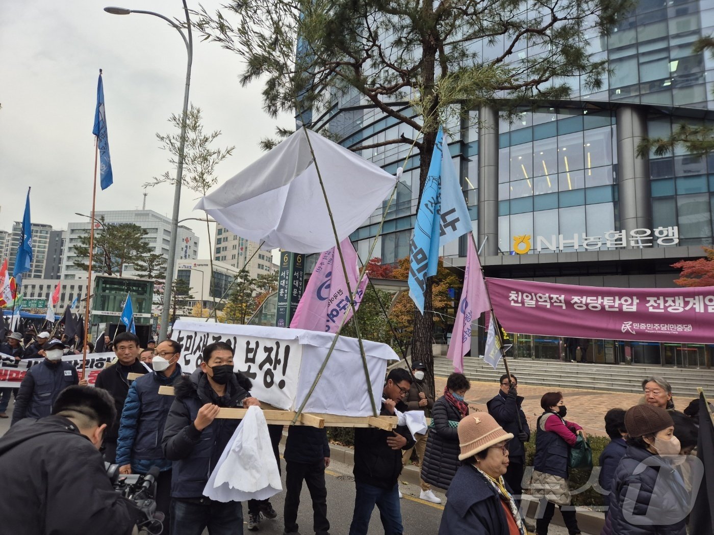
[[[129,15],[139,13],[144,15],[158,16],[159,19],[174,26],[174,29],[181,34],[183,44],[186,45],[186,86],[183,89],[183,113],[181,114],[181,143],[178,145],[178,163],[176,164],[176,185],[174,186],[174,211],[171,213],[171,238],[169,240],[169,259],[166,261],[166,280],[164,281],[164,308],[161,310],[161,323],[159,324],[159,339],[166,338],[169,330],[169,302],[171,302],[171,282],[174,279],[174,267],[176,265],[176,240],[178,238],[178,208],[181,201],[181,182],[183,181],[183,153],[186,149],[186,114],[188,113],[188,88],[191,85],[191,63],[193,61],[193,38],[191,36],[191,19],[188,17],[188,6],[186,0],[183,2],[183,13],[186,14],[186,34],[181,26],[169,19],[169,17],[154,13],[154,11],[144,11],[142,9],[126,9],[124,7],[105,7],[104,11],[112,15]]]

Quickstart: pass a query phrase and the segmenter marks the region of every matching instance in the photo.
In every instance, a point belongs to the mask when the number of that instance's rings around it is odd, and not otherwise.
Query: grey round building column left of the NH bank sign
[[[493,106],[478,108],[478,239],[483,243],[484,238],[483,255],[498,255],[498,110]]]

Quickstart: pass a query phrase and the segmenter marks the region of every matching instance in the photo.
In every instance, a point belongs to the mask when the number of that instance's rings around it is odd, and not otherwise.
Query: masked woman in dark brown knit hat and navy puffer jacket
[[[673,467],[680,443],[670,414],[654,405],[625,413],[628,448],[610,486],[608,524],[617,535],[685,535],[690,495]]]

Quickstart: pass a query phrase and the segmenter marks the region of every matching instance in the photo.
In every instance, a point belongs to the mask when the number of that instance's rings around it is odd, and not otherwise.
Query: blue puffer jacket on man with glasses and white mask
[[[159,394],[159,387],[174,384],[178,377],[180,365],[169,377],[151,372],[131,383],[116,441],[116,464],[120,467],[131,463],[134,474],[146,474],[151,467],[159,467],[161,472],[171,468],[171,461],[161,451],[161,437],[174,396]]]

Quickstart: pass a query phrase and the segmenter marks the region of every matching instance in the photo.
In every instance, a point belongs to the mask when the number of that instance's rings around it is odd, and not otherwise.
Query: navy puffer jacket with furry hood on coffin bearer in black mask
[[[250,379],[241,373],[231,375],[226,394],[218,397],[208,384],[206,374],[196,370],[182,375],[174,382],[176,398],[166,418],[161,447],[164,457],[173,461],[171,497],[200,499],[208,477],[221,458],[223,449],[241,420],[216,418],[202,431],[193,425],[198,409],[206,403],[218,407],[243,407],[243,399],[250,397]]]

